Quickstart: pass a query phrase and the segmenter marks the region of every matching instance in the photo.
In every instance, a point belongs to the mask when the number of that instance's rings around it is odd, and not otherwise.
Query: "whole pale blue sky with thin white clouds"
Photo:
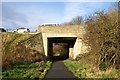
[[[8,2],[6,2],[8,1]],[[10,2],[11,1],[11,2]],[[26,1],[26,0],[24,0]],[[113,2],[15,2],[4,0],[0,6],[4,28],[15,29],[27,27],[36,30],[38,25],[44,23],[64,23],[76,16],[87,17],[95,11],[110,9]],[[53,1],[53,0],[52,0]],[[107,0],[106,0],[107,1]],[[111,0],[113,1],[113,0]],[[2,12],[2,13],[1,13]]]

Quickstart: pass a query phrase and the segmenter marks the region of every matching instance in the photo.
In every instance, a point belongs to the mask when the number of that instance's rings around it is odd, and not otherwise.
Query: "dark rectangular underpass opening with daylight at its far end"
[[[48,38],[48,57],[51,60],[65,60],[70,57],[76,37]]]

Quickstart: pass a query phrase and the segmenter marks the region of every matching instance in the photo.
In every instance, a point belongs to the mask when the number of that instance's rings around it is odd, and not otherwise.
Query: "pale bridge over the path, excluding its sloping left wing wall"
[[[71,59],[85,52],[82,41],[85,30],[82,26],[39,26],[38,31],[42,34],[43,53],[48,57],[53,56],[54,43],[66,43],[66,55]]]

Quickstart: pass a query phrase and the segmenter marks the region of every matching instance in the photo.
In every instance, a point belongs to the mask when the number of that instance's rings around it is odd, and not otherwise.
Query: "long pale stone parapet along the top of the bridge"
[[[38,32],[42,33],[83,33],[84,26],[38,26]]]

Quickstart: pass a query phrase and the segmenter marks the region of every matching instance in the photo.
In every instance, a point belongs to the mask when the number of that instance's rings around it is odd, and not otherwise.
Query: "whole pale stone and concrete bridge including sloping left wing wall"
[[[53,55],[53,43],[67,43],[68,53],[66,54],[72,59],[88,51],[88,47],[83,42],[84,26],[39,26],[38,32],[37,35],[22,44],[25,44],[27,48],[44,53],[48,57]]]

